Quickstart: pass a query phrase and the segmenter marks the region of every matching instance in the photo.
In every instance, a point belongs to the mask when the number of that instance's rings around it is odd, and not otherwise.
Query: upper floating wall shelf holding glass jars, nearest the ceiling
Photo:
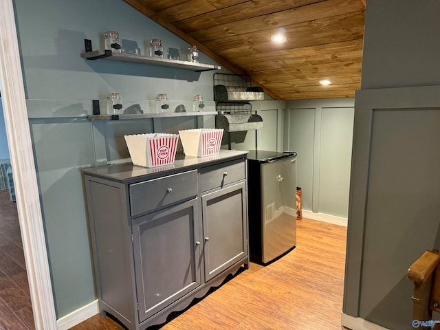
[[[164,67],[174,67],[175,69],[186,69],[195,72],[203,72],[221,69],[220,65],[210,65],[202,63],[192,63],[188,61],[170,60],[168,58],[158,58],[136,54],[113,53],[111,50],[93,50],[81,54],[87,60],[107,60],[130,63],[142,63],[149,65],[162,65]]]

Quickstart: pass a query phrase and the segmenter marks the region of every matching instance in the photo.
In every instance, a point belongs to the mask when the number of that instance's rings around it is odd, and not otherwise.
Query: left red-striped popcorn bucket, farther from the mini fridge
[[[174,163],[179,135],[151,133],[124,138],[134,165],[157,167]]]

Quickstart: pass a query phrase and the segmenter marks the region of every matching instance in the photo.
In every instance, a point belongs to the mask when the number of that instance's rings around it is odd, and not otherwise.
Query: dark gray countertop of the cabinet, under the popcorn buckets
[[[185,155],[177,155],[174,164],[157,166],[153,168],[135,166],[133,165],[133,163],[127,162],[122,164],[83,168],[83,173],[85,173],[86,175],[89,174],[97,177],[111,179],[112,181],[129,183],[129,181],[133,179],[138,180],[139,177],[146,177],[146,179],[151,179],[153,177],[171,175],[177,172],[181,172],[182,170],[200,168],[203,166],[224,162],[225,160],[240,158],[247,153],[248,151],[221,149],[219,155],[206,157],[188,157]]]

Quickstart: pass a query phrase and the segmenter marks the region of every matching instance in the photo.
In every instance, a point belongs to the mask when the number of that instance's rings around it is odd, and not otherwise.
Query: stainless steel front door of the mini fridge
[[[296,245],[296,157],[261,163],[263,263]]]

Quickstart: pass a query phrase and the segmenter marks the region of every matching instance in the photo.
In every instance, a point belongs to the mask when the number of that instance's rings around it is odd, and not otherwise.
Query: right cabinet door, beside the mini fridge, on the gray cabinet
[[[201,197],[205,281],[248,255],[245,181]]]

